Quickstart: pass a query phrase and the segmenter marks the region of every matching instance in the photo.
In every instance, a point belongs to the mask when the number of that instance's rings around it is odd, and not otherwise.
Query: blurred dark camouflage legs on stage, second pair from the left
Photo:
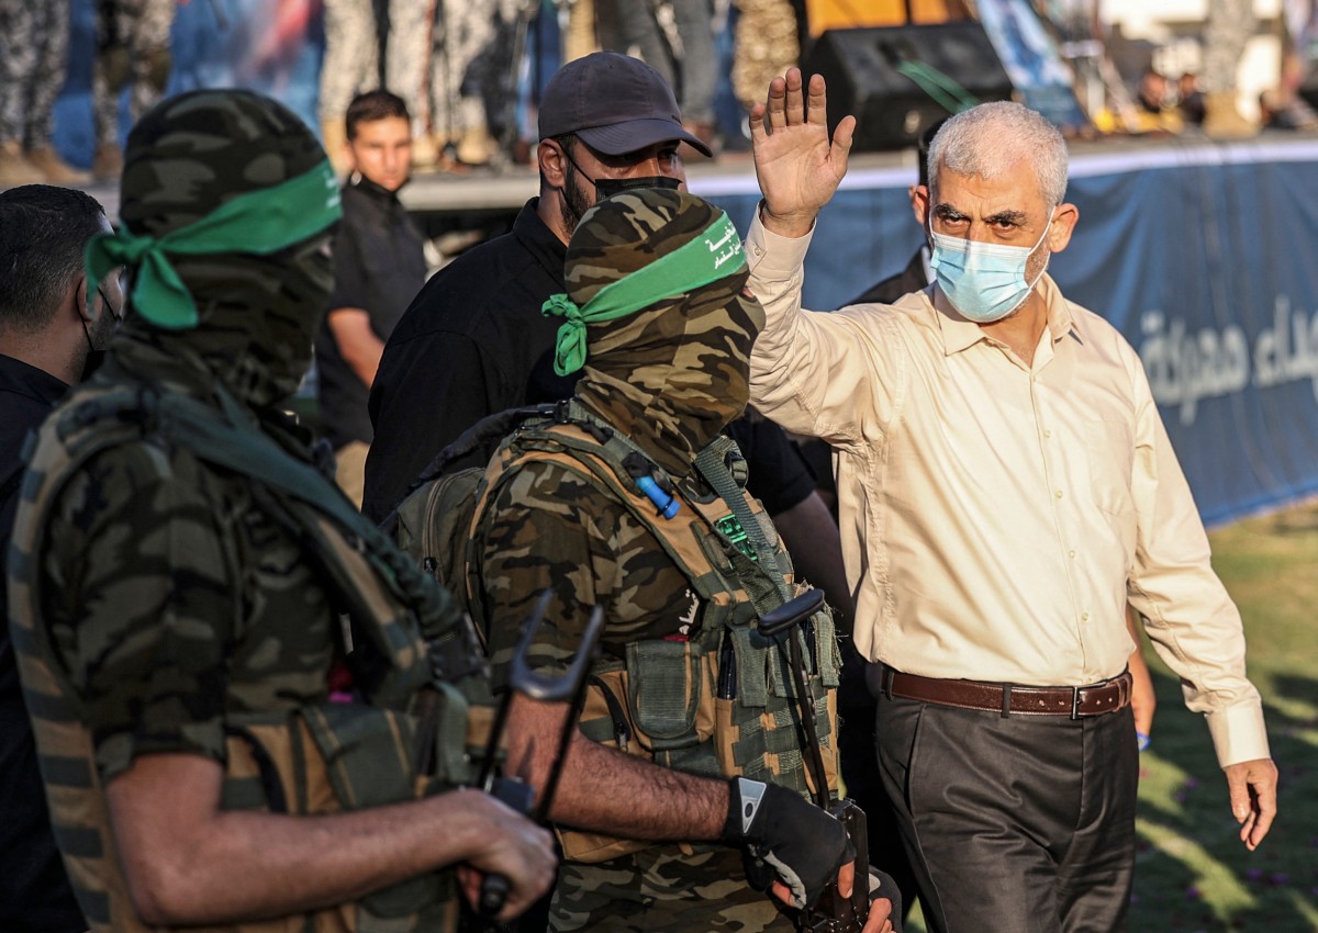
[[[124,88],[132,121],[165,95],[170,69],[170,26],[177,3],[187,0],[96,0],[96,63],[92,69],[92,111],[96,156],[92,175],[115,181],[124,170],[119,113]],[[66,4],[51,4],[66,5]]]

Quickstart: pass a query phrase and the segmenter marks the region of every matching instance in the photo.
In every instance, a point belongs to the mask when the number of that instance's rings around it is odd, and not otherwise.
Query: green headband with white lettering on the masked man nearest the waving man
[[[551,295],[540,312],[546,318],[567,319],[559,327],[554,372],[571,376],[585,365],[587,324],[625,318],[666,298],[728,278],[745,266],[746,256],[737,228],[726,213],[720,213],[702,235],[662,260],[604,286],[583,307],[567,295]]]

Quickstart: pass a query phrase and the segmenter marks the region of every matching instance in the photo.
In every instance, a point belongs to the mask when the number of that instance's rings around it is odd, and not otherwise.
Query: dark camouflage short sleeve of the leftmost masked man
[[[43,615],[105,780],[144,752],[223,758],[237,588],[196,473],[133,444],[92,459],[53,503]]]

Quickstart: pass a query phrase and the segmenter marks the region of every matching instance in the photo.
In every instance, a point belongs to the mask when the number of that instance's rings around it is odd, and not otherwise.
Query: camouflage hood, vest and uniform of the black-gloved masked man
[[[600,287],[699,236],[717,208],[670,191],[635,191],[588,212],[568,249],[567,281],[579,304]],[[738,700],[714,701],[720,647],[731,629],[749,639],[751,592],[762,592],[747,560],[713,522],[729,509],[695,476],[696,453],[741,414],[751,344],[763,322],[743,298],[743,274],[631,316],[588,329],[588,361],[577,398],[623,432],[671,478],[681,499],[672,522],[630,485],[621,456],[605,455],[581,427],[523,430],[488,473],[473,563],[488,606],[496,677],[506,668],[535,596],[554,592],[531,652],[532,667],[560,672],[576,651],[590,608],[605,609],[604,656],[594,675],[621,702],[629,754],[696,774],[739,770],[797,789],[807,787],[780,655],[741,648]],[[747,497],[749,498],[749,497]],[[772,524],[751,507],[782,560]],[[832,750],[837,646],[826,618],[812,654],[817,723]],[[641,668],[645,677],[635,676]],[[646,698],[658,683],[667,700]],[[757,705],[758,704],[758,705]],[[721,723],[721,725],[720,725]],[[778,735],[766,735],[778,727]],[[588,693],[583,731],[619,746],[600,687]],[[717,734],[716,734],[717,731]],[[783,754],[767,752],[778,742]],[[791,751],[788,751],[791,749]],[[738,766],[738,760],[746,764]],[[758,768],[758,770],[757,770]],[[746,884],[741,854],[716,845],[614,845],[563,833],[567,858],[551,912],[555,930],[789,930],[793,922]],[[581,849],[579,849],[579,845]],[[617,853],[623,853],[612,857]],[[597,861],[604,857],[605,861]]]

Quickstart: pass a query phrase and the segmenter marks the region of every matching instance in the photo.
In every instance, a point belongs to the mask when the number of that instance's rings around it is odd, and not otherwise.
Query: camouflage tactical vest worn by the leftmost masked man
[[[480,726],[489,710],[474,704],[489,701],[488,684],[461,615],[447,611],[432,581],[382,542],[314,466],[252,426],[223,390],[220,397],[223,415],[149,389],[83,390],[76,403],[42,427],[22,485],[9,555],[13,644],[55,838],[96,933],[148,928],[128,897],[80,700],[57,662],[49,631],[38,623],[38,561],[59,492],[101,451],[163,436],[221,470],[264,484],[269,507],[283,510],[285,521],[294,523],[307,559],[322,568],[326,589],[348,609],[345,640],[356,646],[352,656],[370,660],[353,668],[369,702],[227,718],[223,809],[318,814],[420,799],[471,783],[472,751],[484,742]],[[336,908],[211,929],[453,930],[455,895],[451,872],[430,872]]]

